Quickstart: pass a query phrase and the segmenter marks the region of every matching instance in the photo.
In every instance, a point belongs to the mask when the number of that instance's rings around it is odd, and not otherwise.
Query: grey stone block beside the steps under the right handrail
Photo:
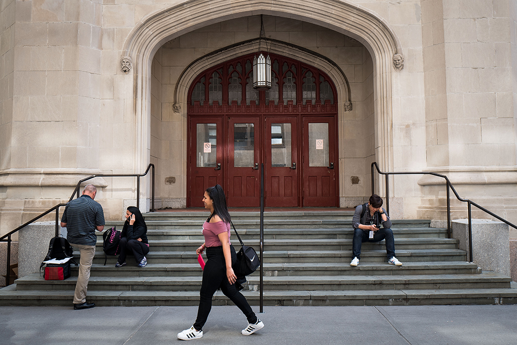
[[[468,255],[468,219],[454,220],[452,237],[460,240],[460,249]],[[472,258],[483,270],[510,276],[510,231],[503,222],[472,220]]]

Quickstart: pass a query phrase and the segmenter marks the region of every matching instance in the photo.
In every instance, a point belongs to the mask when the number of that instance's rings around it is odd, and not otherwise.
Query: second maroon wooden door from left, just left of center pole
[[[260,206],[260,117],[228,117],[226,133],[228,205]]]

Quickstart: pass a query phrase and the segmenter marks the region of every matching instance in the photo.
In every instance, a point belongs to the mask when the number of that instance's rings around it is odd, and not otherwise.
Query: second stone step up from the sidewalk
[[[135,268],[136,269],[136,268]],[[145,268],[144,268],[145,269]],[[398,269],[398,267],[393,267]],[[202,272],[179,277],[90,277],[88,291],[199,291]],[[17,290],[73,290],[77,277],[47,281],[38,274],[16,280]],[[267,291],[341,291],[401,289],[487,289],[510,287],[511,278],[493,274],[392,276],[282,276],[264,277]],[[257,290],[259,277],[249,276],[245,290]]]

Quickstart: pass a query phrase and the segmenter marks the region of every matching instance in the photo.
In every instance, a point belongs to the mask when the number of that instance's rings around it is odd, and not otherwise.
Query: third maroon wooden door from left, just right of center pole
[[[299,199],[298,120],[267,117],[265,129],[265,205],[297,207]]]

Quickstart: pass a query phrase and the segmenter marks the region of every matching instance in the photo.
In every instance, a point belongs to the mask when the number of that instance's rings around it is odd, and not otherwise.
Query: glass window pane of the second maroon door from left
[[[253,167],[255,160],[255,128],[253,123],[233,125],[233,159],[235,167]]]

